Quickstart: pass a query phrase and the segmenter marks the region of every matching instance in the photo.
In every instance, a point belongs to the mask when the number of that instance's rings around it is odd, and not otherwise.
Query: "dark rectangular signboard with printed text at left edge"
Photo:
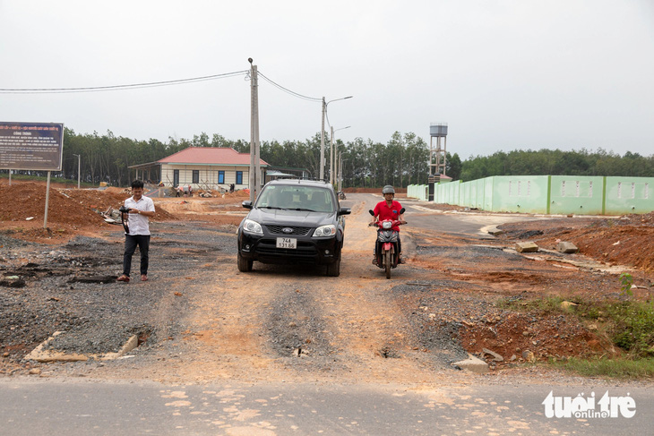
[[[0,122],[0,168],[61,171],[64,124]]]

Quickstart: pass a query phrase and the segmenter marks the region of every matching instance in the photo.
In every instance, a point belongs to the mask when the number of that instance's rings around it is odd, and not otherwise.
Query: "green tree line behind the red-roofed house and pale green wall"
[[[305,168],[311,176],[320,175],[320,133],[305,141],[262,141],[260,156],[272,167]],[[194,135],[191,140],[168,138],[138,141],[116,136],[108,131],[75,133],[65,128],[62,171],[54,177],[77,180],[78,158],[81,157],[80,179],[89,184],[106,182],[128,186],[133,177],[128,167],[156,162],[188,147],[229,147],[248,153],[250,142],[231,141],[219,134]],[[379,187],[384,184],[406,187],[426,184],[429,174],[429,146],[415,133],[393,133],[386,143],[356,138],[334,142],[342,159],[344,187]],[[328,177],[330,138],[325,139],[325,176]],[[491,175],[622,175],[654,177],[654,155],[643,157],[627,151],[624,156],[599,149],[513,150],[497,151],[490,156],[461,160],[457,153],[446,155],[445,173],[453,180],[469,181]],[[20,171],[30,175],[46,172]],[[159,182],[159,175],[152,175]]]

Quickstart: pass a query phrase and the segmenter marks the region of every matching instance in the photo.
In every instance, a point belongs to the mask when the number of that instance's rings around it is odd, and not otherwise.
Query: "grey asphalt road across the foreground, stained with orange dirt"
[[[633,400],[626,418],[547,418],[553,396]],[[645,388],[538,385],[443,387],[0,380],[0,434],[651,434]],[[615,402],[615,401],[614,401]],[[650,430],[647,430],[650,429]]]

